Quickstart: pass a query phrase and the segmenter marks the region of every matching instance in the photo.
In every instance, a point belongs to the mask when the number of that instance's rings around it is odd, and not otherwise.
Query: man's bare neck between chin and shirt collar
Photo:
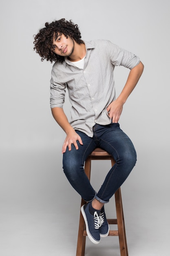
[[[71,56],[68,57],[69,61],[80,61],[86,55],[86,46],[84,43],[78,44],[74,41],[74,51]]]

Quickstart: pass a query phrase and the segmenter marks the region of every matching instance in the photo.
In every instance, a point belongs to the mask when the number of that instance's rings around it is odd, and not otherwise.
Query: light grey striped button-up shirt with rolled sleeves
[[[51,108],[63,107],[66,87],[71,102],[71,126],[93,137],[93,126],[110,124],[106,108],[115,100],[115,66],[130,70],[139,64],[139,57],[108,40],[85,42],[84,68],[79,69],[65,59],[52,69]]]

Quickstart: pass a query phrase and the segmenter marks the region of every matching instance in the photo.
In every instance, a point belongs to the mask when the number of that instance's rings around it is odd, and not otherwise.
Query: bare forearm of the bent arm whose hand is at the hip
[[[144,70],[144,65],[141,62],[139,62],[139,64],[136,67],[134,67],[134,68],[132,68],[132,70],[130,70],[126,84],[125,84],[121,94],[117,98],[117,100],[121,101],[123,104],[126,102],[130,93],[137,85],[137,82],[139,81],[139,78],[140,78],[143,70]]]

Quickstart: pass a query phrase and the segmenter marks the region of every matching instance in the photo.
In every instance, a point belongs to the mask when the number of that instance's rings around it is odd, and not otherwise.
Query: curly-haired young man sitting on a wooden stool
[[[136,163],[135,148],[120,129],[123,105],[135,88],[144,65],[139,58],[107,40],[81,40],[77,25],[65,19],[46,23],[34,38],[42,61],[55,61],[51,77],[51,109],[66,132],[62,147],[63,169],[73,188],[88,203],[81,211],[90,240],[97,244],[108,236],[104,204],[123,184]],[[130,69],[126,84],[115,99],[113,71]],[[63,111],[66,87],[71,101],[71,121]],[[84,173],[84,161],[96,148],[110,153],[116,164],[98,192]]]

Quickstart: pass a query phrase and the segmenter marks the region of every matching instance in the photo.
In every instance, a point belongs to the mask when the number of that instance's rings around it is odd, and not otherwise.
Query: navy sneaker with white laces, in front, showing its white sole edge
[[[94,215],[89,212],[89,203],[81,207],[81,212],[86,224],[88,238],[92,243],[98,244],[100,242],[99,227],[102,225],[102,217],[98,216],[97,211],[95,211]]]

